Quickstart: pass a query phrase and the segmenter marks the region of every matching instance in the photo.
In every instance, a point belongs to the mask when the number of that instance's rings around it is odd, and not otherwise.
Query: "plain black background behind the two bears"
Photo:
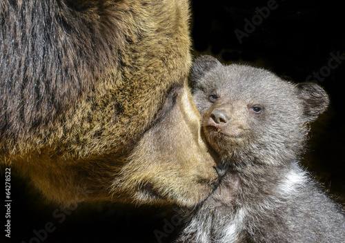
[[[208,54],[227,64],[267,68],[295,82],[306,81],[321,70],[322,79],[309,81],[325,88],[331,107],[312,125],[309,153],[303,165],[345,205],[345,60],[339,58],[337,68],[328,64],[337,64],[331,60],[333,55],[345,59],[342,2],[277,0],[275,9],[266,12],[266,19],[255,17],[270,3],[273,1],[192,1],[193,55]],[[245,25],[253,23],[253,17],[256,26],[240,43],[235,30],[248,30]],[[5,195],[4,168],[0,174]],[[15,171],[11,179],[9,242],[160,242],[156,235],[161,242],[168,242],[176,233],[173,208],[103,203],[63,209],[46,203]],[[0,218],[1,225],[6,224],[5,211]],[[53,230],[45,234],[42,230],[47,223]],[[41,240],[34,230],[40,232]],[[4,235],[1,230],[0,242],[8,242]]]

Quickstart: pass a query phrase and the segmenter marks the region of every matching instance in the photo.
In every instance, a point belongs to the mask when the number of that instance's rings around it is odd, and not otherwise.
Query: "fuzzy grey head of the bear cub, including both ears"
[[[196,59],[190,81],[210,146],[227,162],[275,164],[304,150],[308,123],[328,106],[316,84],[293,84],[260,68]]]

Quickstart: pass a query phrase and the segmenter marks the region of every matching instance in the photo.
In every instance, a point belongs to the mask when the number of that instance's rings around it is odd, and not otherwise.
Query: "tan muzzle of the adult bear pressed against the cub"
[[[140,139],[113,183],[135,202],[193,206],[218,182],[213,158],[201,139],[200,115],[184,86],[176,104]],[[190,151],[190,153],[188,153]]]

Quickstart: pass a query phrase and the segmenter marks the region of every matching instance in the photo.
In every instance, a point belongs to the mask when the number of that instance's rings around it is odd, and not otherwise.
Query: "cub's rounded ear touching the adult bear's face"
[[[206,72],[209,72],[218,65],[221,65],[221,63],[215,57],[209,55],[197,57],[189,76],[191,86],[194,86],[201,77],[204,77]]]

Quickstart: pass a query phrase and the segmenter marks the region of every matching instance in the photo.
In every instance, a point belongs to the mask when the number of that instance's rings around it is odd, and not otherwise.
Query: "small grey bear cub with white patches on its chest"
[[[190,81],[225,172],[176,242],[345,242],[341,206],[299,166],[325,91],[210,56],[195,61]]]

